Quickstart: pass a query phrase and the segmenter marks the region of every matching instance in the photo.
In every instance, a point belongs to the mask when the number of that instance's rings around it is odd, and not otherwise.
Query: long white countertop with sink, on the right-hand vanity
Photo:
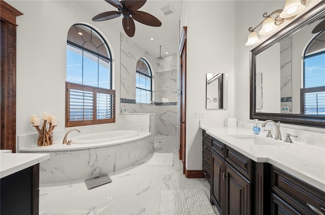
[[[208,135],[216,138],[255,162],[268,162],[289,174],[325,191],[325,148],[294,141],[280,145],[254,145],[238,140],[237,137],[251,136],[253,131],[241,127],[224,127],[200,123]],[[266,138],[265,134],[258,135]],[[282,138],[285,135],[282,134]],[[277,141],[277,140],[274,140]]]

